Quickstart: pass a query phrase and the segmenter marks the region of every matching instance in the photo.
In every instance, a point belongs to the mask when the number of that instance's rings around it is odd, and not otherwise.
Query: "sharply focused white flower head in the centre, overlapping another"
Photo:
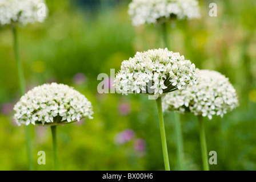
[[[137,52],[122,62],[115,77],[117,92],[163,96],[186,85],[197,84],[197,70],[190,60],[165,49]]]

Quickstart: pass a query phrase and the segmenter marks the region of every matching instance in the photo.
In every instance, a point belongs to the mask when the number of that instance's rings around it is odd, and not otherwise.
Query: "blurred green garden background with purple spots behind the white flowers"
[[[93,104],[94,119],[58,127],[61,170],[163,170],[161,137],[154,100],[129,94],[99,94],[99,73],[110,76],[137,51],[163,48],[161,27],[133,27],[130,1],[48,0],[45,22],[18,29],[27,89],[45,82],[73,86]],[[209,16],[217,3],[218,16]],[[216,151],[211,170],[256,169],[256,2],[199,1],[202,18],[169,24],[171,51],[201,69],[230,78],[239,107],[223,118],[205,118],[208,151]],[[10,27],[0,28],[0,169],[27,170],[25,128],[13,122],[19,100],[17,68]],[[113,77],[105,80],[109,88]],[[108,84],[109,83],[109,84]],[[165,113],[171,169],[177,169],[172,113]],[[182,115],[187,170],[202,170],[198,123]],[[31,127],[36,170],[53,169],[49,127]],[[46,165],[38,165],[38,151]]]

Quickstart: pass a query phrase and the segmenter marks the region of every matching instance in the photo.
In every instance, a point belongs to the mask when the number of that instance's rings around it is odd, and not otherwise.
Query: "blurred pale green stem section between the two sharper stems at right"
[[[181,119],[179,113],[174,113],[175,117],[175,134],[177,139],[177,156],[178,156],[178,170],[184,170],[184,147],[183,147],[183,138],[182,138],[182,128],[181,128]]]

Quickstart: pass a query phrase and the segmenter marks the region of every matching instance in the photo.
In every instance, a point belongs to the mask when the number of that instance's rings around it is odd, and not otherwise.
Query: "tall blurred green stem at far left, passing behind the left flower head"
[[[19,59],[19,49],[18,49],[18,35],[17,35],[17,28],[12,26],[13,31],[13,47],[14,47],[14,54],[15,60],[17,63],[17,72],[18,72],[18,80],[19,80],[19,94],[23,96],[25,94],[25,78],[23,75],[23,69],[21,60]],[[29,162],[29,169],[30,171],[33,170],[32,164],[32,147],[31,147],[31,134],[30,134],[30,125],[25,126],[25,133],[26,133],[26,150],[27,150],[27,159]]]

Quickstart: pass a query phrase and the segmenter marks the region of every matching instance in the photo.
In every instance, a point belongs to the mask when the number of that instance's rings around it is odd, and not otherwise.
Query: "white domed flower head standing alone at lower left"
[[[33,88],[21,97],[14,110],[18,125],[57,125],[93,118],[91,102],[83,94],[57,83]]]

